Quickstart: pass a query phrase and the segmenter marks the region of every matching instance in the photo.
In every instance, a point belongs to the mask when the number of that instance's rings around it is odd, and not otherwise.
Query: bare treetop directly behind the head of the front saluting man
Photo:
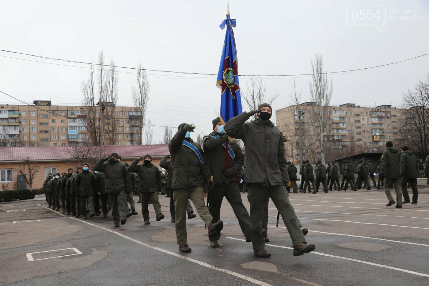
[[[250,84],[249,84],[250,81]],[[251,76],[250,79],[246,80],[246,90],[242,90],[242,99],[247,103],[249,110],[257,110],[258,106],[262,103],[268,103],[271,105],[273,101],[280,96],[277,92],[272,94],[272,96],[267,97],[266,95],[267,87],[263,82],[261,76]],[[257,115],[254,115],[254,119],[257,118]]]

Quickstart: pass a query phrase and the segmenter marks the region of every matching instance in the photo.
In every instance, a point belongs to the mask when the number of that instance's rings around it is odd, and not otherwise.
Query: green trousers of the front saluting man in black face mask
[[[305,240],[299,222],[296,221],[296,216],[293,208],[290,205],[289,199],[284,191],[284,186],[263,186],[262,184],[248,184],[248,201],[250,203],[250,220],[251,220],[251,235],[253,249],[258,251],[265,249],[264,238],[261,234],[262,217],[266,208],[266,198],[271,198],[275,207],[281,214],[284,225],[292,239],[292,245],[295,246]]]

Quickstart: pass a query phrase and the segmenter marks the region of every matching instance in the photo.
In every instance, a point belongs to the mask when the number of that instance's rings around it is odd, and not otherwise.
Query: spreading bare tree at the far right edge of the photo
[[[419,158],[429,154],[429,73],[418,80],[414,90],[402,93],[399,143],[408,145]]]

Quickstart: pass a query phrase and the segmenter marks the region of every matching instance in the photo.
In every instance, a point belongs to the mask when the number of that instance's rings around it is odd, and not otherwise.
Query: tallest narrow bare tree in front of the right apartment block
[[[313,116],[311,121],[319,133],[320,158],[325,164],[325,153],[327,143],[324,134],[327,134],[328,123],[330,120],[330,103],[332,98],[332,79],[328,80],[326,72],[323,71],[323,57],[316,54],[311,61],[312,79],[310,85],[310,98],[314,102]]]

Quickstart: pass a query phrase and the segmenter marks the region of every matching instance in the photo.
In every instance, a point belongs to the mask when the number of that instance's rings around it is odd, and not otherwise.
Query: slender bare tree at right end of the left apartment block
[[[130,124],[133,126],[133,133],[131,139],[137,141],[138,144],[142,144],[142,131],[145,124],[146,109],[149,100],[149,91],[151,86],[146,75],[146,71],[143,69],[142,64],[139,64],[137,70],[137,88],[133,86],[131,90],[131,96],[133,97],[133,106],[136,109],[136,115],[130,119]],[[140,136],[135,136],[135,129],[138,129]]]

